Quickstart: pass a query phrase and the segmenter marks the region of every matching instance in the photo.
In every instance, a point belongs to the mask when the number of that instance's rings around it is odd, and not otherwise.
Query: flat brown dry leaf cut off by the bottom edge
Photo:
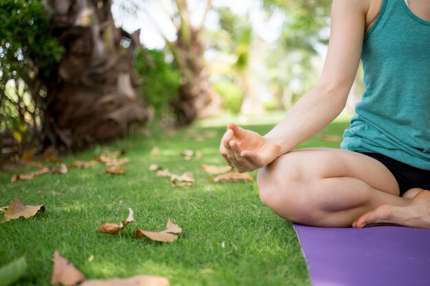
[[[169,281],[161,276],[137,275],[123,279],[88,280],[80,286],[169,286]]]

